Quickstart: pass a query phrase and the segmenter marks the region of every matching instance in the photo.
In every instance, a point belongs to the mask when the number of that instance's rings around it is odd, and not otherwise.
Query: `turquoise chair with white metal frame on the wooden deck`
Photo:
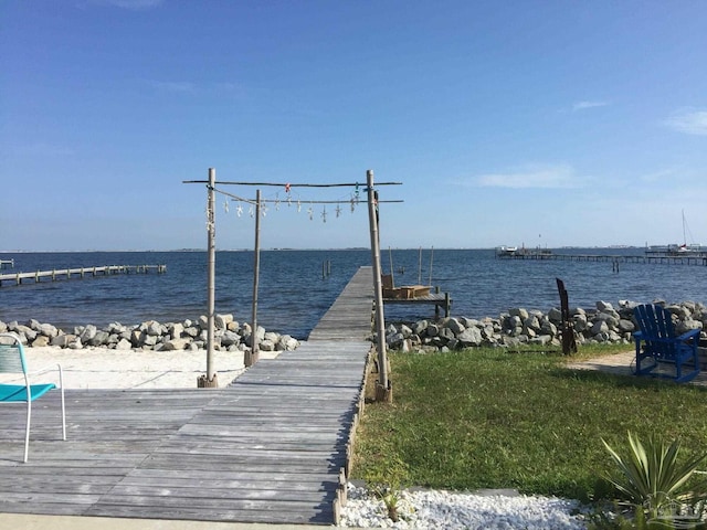
[[[66,439],[66,409],[64,406],[64,378],[61,364],[59,370],[59,390],[62,396],[62,439]],[[14,333],[0,333],[0,373],[22,374],[24,384],[0,383],[0,403],[27,403],[27,426],[24,433],[24,459],[30,453],[30,424],[32,422],[32,402],[39,400],[50,390],[56,389],[54,383],[30,384],[30,375],[45,373],[52,369],[29,372],[24,359],[24,348]]]

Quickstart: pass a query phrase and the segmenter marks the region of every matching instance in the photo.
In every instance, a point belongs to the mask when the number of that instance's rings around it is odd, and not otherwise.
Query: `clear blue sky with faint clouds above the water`
[[[701,0],[3,0],[0,64],[0,250],[203,248],[211,167],[402,182],[383,247],[707,244]],[[367,246],[354,191],[262,188],[263,247]]]

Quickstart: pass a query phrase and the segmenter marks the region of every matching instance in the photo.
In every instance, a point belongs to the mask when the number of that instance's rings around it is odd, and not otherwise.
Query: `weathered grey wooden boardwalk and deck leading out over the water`
[[[272,523],[335,522],[370,343],[370,267],[309,340],[232,385],[67,390],[0,415],[0,512]]]

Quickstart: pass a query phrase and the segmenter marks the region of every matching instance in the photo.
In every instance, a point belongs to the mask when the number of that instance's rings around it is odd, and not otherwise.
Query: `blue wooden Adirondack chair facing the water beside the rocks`
[[[663,306],[636,306],[633,314],[641,328],[641,331],[633,333],[636,343],[636,375],[651,374],[684,383],[699,373],[699,329],[676,335],[673,317]],[[665,363],[675,365],[674,375],[653,372]]]

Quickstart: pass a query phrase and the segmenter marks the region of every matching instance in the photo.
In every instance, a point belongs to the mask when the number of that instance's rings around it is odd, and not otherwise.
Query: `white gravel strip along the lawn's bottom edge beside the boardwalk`
[[[400,495],[400,519],[388,518],[386,505],[365,488],[349,485],[341,527],[574,530],[585,529],[576,500],[553,497],[409,491]]]

